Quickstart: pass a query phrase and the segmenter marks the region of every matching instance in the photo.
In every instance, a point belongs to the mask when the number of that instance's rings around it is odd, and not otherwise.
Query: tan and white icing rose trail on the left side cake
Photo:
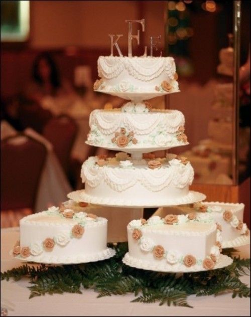
[[[97,216],[93,214],[87,214],[85,212],[75,212],[72,209],[65,208],[64,206],[51,207],[47,211],[48,215],[59,215],[62,218],[70,218],[77,220],[77,223],[72,226],[70,232],[61,231],[54,237],[48,237],[42,242],[35,241],[30,246],[20,246],[20,241],[15,244],[12,255],[20,256],[21,258],[27,258],[29,256],[38,256],[45,252],[51,252],[55,245],[61,247],[67,245],[71,239],[80,239],[84,234],[84,226],[87,222],[96,221]]]

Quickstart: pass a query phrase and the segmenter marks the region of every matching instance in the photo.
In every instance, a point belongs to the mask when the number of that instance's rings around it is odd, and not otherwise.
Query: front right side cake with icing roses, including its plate
[[[162,272],[195,272],[227,266],[222,236],[208,215],[152,216],[133,220],[128,227],[129,252],[124,264]]]

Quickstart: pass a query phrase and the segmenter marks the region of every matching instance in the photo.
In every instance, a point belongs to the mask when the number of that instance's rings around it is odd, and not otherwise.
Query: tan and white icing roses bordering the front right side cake
[[[148,220],[140,219],[133,220],[130,222],[129,227],[132,229],[132,237],[134,240],[138,241],[141,250],[144,252],[152,252],[156,259],[166,259],[167,263],[174,265],[177,263],[184,264],[186,267],[191,267],[194,265],[202,265],[205,269],[213,269],[215,263],[217,262],[220,252],[222,251],[221,243],[222,236],[220,233],[220,227],[217,226],[216,231],[216,243],[212,246],[210,250],[210,255],[208,255],[203,260],[196,259],[192,254],[182,255],[177,250],[165,250],[161,244],[155,244],[154,241],[149,237],[144,237],[143,227],[149,225],[179,225],[187,222],[214,222],[213,218],[208,217],[208,215],[203,214],[196,216],[195,213],[189,213],[187,215],[172,215],[169,214],[165,218],[159,216],[152,216]]]

